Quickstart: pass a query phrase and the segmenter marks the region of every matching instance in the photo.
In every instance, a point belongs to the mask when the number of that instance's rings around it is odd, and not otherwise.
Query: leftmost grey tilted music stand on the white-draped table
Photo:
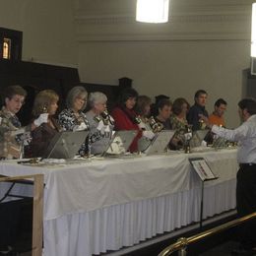
[[[42,159],[74,159],[89,131],[63,131],[55,134]]]

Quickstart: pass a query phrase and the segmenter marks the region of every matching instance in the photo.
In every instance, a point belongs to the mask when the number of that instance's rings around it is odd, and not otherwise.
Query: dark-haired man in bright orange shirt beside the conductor
[[[226,110],[226,101],[223,98],[219,98],[215,102],[215,110],[209,115],[209,122],[219,126],[225,126],[224,111]]]

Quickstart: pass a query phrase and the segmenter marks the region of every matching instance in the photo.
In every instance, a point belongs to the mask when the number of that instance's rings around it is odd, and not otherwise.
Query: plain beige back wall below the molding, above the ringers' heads
[[[184,96],[193,103],[195,91],[204,89],[209,112],[217,98],[227,100],[226,121],[233,127],[248,56],[243,40],[88,42],[80,48],[79,67],[83,81],[116,85],[126,76],[148,96]]]

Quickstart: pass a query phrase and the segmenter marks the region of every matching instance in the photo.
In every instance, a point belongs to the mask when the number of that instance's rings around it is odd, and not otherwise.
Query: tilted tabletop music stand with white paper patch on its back
[[[124,155],[131,146],[138,131],[114,131],[110,142],[106,145],[102,157]]]

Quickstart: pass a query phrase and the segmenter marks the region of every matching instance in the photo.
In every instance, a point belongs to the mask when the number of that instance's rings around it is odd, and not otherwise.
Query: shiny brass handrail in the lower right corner
[[[198,234],[195,234],[195,235],[192,235],[188,238],[186,237],[181,237],[180,239],[178,239],[177,242],[167,246],[166,248],[164,248],[159,256],[167,256],[167,255],[170,255],[172,252],[175,252],[177,250],[181,250],[181,254],[183,252],[183,255],[185,255],[184,253],[184,250],[185,248],[191,244],[191,243],[194,243],[194,242],[197,242],[198,240],[201,240],[207,236],[210,236],[210,235],[213,235],[213,234],[216,234],[218,232],[221,232],[221,231],[224,231],[225,229],[227,228],[230,228],[230,227],[233,227],[235,225],[238,225],[238,224],[242,224],[244,222],[247,222],[253,218],[256,217],[256,212],[253,213],[253,214],[250,214],[250,215],[247,215],[247,216],[244,216],[242,218],[239,218],[239,219],[236,219],[236,220],[233,220],[231,222],[228,222],[226,224],[221,224],[219,226],[216,226],[216,227],[213,227],[211,229],[208,229],[204,232],[201,232],[201,233],[198,233]]]

